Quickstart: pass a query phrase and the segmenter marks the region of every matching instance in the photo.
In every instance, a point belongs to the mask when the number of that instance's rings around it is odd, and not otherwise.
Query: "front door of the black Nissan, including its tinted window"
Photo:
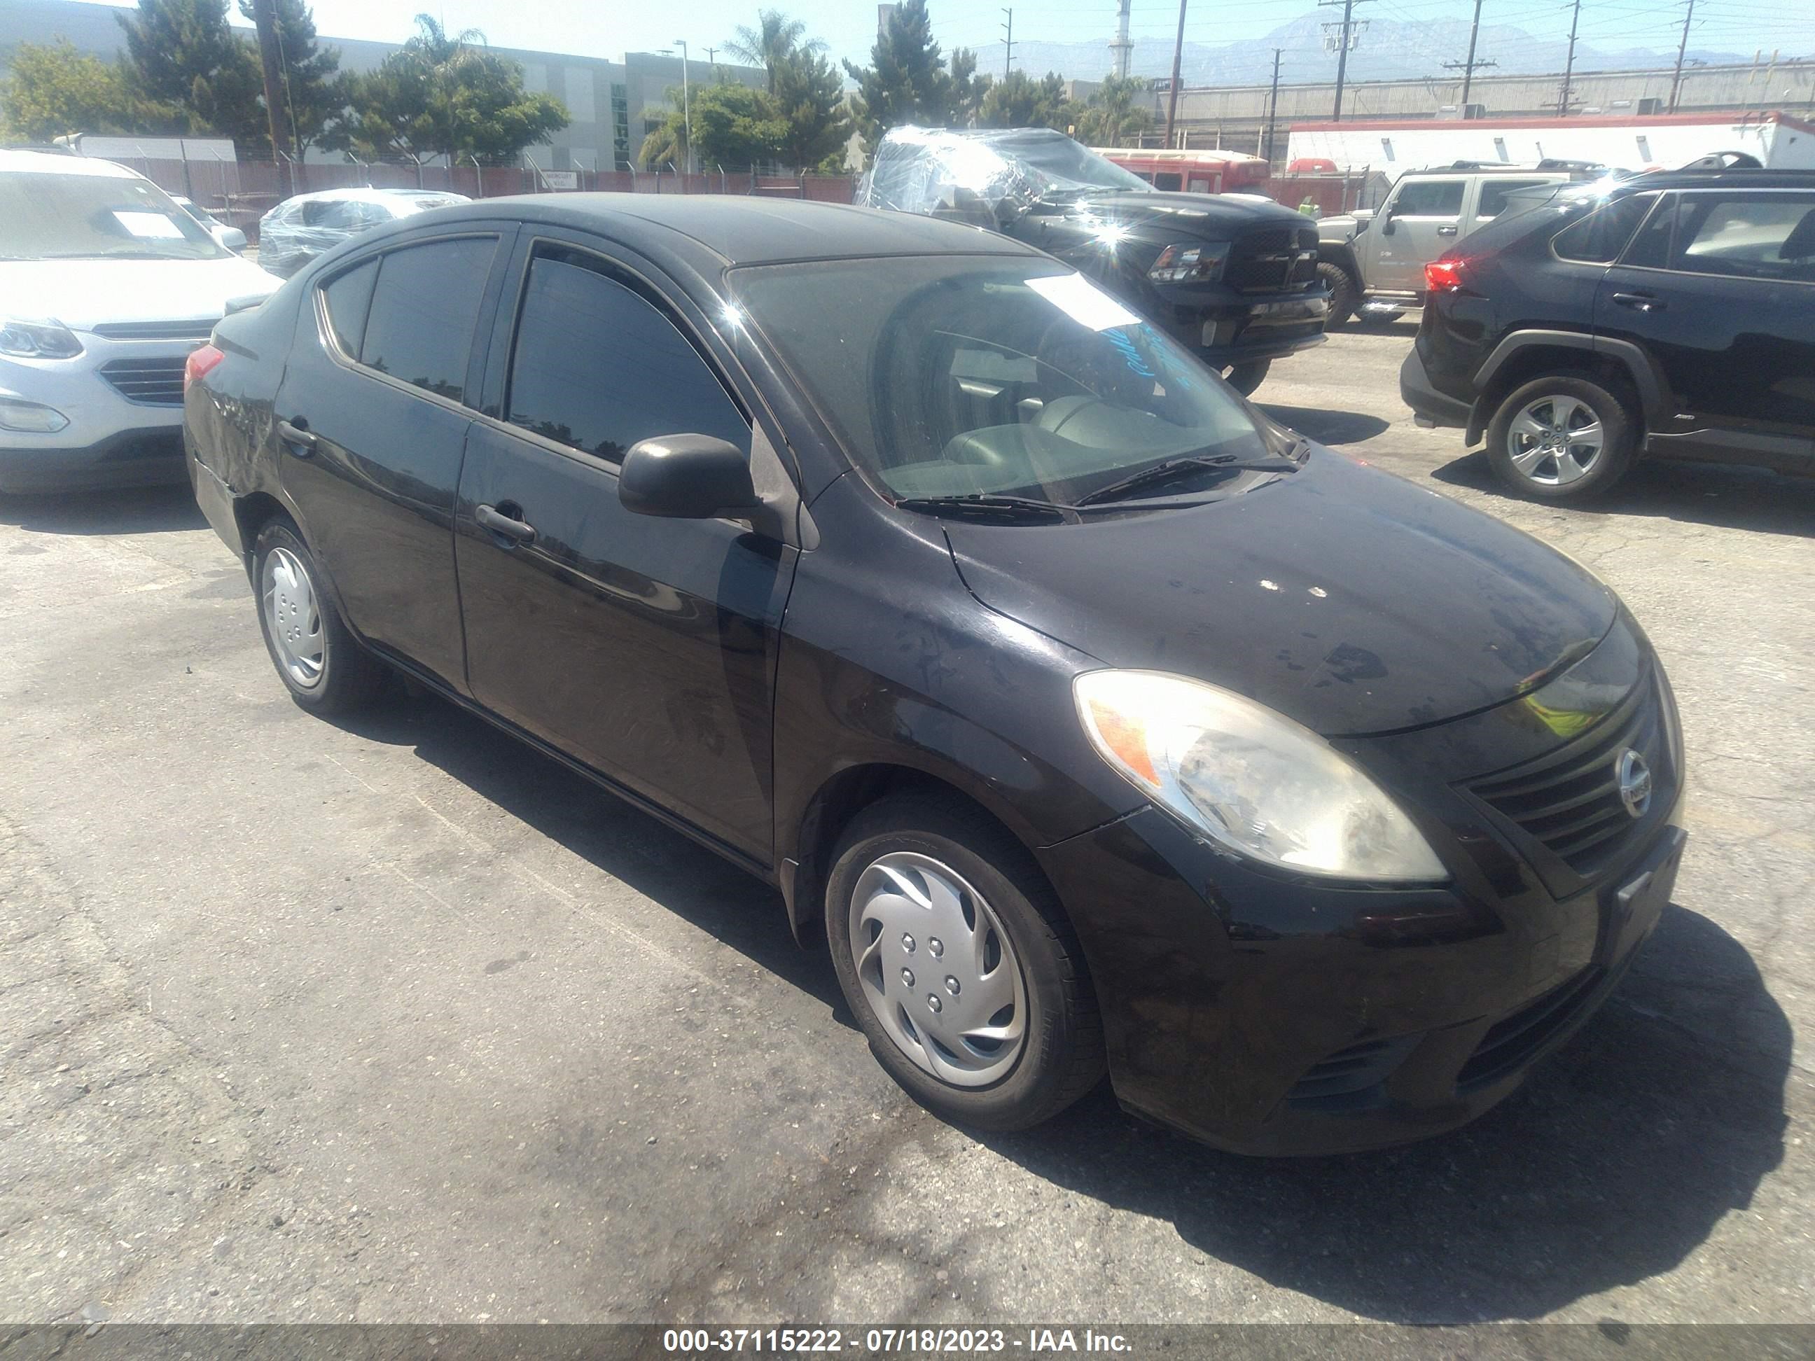
[[[766,864],[795,550],[617,499],[637,441],[708,434],[748,454],[751,423],[646,283],[572,245],[523,254],[499,347],[508,419],[474,423],[459,488],[472,695]]]

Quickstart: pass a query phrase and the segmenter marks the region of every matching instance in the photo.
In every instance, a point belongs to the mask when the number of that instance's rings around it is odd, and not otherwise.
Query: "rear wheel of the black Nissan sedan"
[[[267,521],[252,544],[252,593],[265,651],[310,713],[354,713],[378,699],[385,668],[347,630],[296,526]]]

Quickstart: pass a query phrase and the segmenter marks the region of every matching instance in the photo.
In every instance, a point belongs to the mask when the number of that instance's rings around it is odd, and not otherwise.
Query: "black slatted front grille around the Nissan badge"
[[[1668,808],[1675,773],[1666,759],[1657,682],[1650,677],[1568,746],[1472,788],[1496,813],[1586,878],[1650,824],[1650,818],[1634,818],[1619,797],[1617,766],[1626,748],[1644,757],[1652,769],[1652,808]]]

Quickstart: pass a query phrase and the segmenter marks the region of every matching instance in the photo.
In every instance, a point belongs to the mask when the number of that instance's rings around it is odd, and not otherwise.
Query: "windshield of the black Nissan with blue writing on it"
[[[1280,465],[1289,446],[1185,348],[1055,261],[840,259],[730,278],[744,323],[897,499],[1074,506],[1174,459],[1194,463],[1142,499],[1225,495],[1278,475],[1247,465]]]

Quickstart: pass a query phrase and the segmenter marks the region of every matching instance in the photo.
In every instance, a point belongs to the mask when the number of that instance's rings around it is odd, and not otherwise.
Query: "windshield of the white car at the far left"
[[[9,259],[221,259],[229,252],[145,180],[0,172],[0,256]]]

